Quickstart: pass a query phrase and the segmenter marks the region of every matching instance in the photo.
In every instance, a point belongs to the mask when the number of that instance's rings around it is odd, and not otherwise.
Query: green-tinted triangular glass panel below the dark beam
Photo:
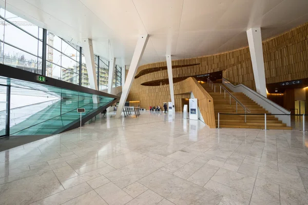
[[[80,114],[76,111],[78,108],[85,108],[86,112],[82,116],[87,117],[114,100],[5,77],[0,77],[1,83],[11,85],[10,135],[54,134],[80,120]],[[6,95],[3,92],[0,94]],[[94,104],[93,99],[99,99],[99,103]],[[0,114],[1,134],[5,133],[5,108],[0,110]]]

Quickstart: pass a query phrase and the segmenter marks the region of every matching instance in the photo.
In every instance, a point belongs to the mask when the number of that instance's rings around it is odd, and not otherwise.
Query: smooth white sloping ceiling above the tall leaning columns
[[[91,38],[94,53],[111,48],[126,65],[139,34],[150,36],[142,65],[247,46],[251,27],[267,39],[308,22],[308,0],[7,0],[7,10],[74,43]]]

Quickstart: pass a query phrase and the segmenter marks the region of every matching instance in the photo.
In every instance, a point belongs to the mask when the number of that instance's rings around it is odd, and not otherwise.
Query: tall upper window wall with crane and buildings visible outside
[[[0,63],[89,88],[81,51],[78,45],[0,8]],[[109,61],[97,55],[94,60],[99,90],[107,89]],[[116,66],[112,86],[121,86],[121,79],[121,67]]]

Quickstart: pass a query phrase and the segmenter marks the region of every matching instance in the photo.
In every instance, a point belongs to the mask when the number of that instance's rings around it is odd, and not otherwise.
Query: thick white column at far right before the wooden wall
[[[257,92],[263,95],[264,97],[267,97],[261,28],[248,29],[247,38],[252,58]]]

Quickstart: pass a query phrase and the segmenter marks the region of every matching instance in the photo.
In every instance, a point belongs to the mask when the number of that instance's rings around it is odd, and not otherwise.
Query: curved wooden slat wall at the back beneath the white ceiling
[[[308,24],[265,40],[263,55],[266,83],[308,78]],[[172,60],[172,65],[199,63],[200,65],[197,66],[172,69],[172,74],[174,77],[184,77],[223,71],[223,77],[231,83],[244,84],[256,89],[248,47],[211,56]],[[140,66],[137,73],[144,69],[161,66],[166,66],[166,62]],[[162,107],[163,102],[170,101],[169,85],[151,87],[141,84],[164,78],[168,78],[167,70],[149,73],[134,79],[128,100],[140,100],[140,106],[146,109],[150,105]],[[181,98],[189,97],[190,94],[175,96],[176,111],[182,111]]]

